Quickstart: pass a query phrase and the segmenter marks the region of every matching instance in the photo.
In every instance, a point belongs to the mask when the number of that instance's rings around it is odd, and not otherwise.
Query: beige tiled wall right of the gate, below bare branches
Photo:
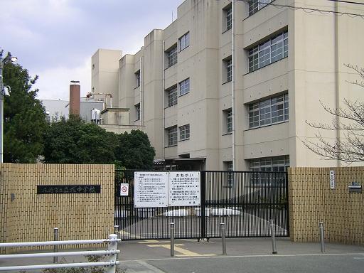
[[[335,171],[335,189],[329,172]],[[317,242],[319,222],[326,242],[364,244],[364,192],[349,193],[348,186],[364,186],[364,167],[289,168],[289,228],[295,242]]]

